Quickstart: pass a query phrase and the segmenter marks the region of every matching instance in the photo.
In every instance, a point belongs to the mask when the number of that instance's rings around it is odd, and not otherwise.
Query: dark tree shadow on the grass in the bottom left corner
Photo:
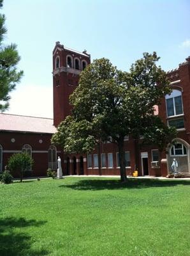
[[[40,227],[46,221],[26,220],[25,218],[0,219],[0,255],[2,256],[40,256],[47,255],[47,250],[31,248],[31,237],[17,228]]]

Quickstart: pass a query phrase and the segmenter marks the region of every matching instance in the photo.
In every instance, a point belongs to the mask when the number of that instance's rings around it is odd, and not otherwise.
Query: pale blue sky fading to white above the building
[[[24,70],[7,113],[52,117],[52,50],[59,41],[128,70],[156,51],[168,71],[190,55],[189,0],[6,0],[4,44],[18,45]]]

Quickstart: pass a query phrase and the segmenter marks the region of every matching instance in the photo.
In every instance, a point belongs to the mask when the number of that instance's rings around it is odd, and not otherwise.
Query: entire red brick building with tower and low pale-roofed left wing
[[[91,154],[64,154],[51,145],[50,138],[57,125],[71,111],[69,95],[78,85],[79,74],[91,63],[86,51],[78,52],[55,44],[53,51],[54,119],[0,114],[0,172],[8,157],[15,152],[26,151],[34,159],[33,172],[29,175],[46,175],[48,167],[57,168],[57,156],[61,156],[64,175],[119,175],[117,146],[109,141],[96,146]],[[173,92],[166,95],[156,109],[168,125],[178,130],[177,144],[168,148],[168,154],[159,153],[156,147],[139,149],[138,142],[126,136],[126,173],[131,175],[139,163],[139,175],[166,176],[171,170],[173,158],[179,163],[179,171],[190,174],[190,58],[178,68],[168,72]],[[143,138],[142,138],[143,140]]]

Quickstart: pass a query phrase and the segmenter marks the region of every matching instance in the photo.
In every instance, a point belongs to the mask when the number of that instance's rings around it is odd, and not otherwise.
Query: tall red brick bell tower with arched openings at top
[[[53,51],[54,125],[71,114],[69,95],[78,85],[79,75],[91,63],[87,51],[78,52],[56,42]]]

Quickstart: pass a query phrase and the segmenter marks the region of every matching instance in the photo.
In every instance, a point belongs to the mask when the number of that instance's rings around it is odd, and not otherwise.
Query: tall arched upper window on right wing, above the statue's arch
[[[168,125],[174,126],[177,129],[183,129],[184,117],[180,116],[184,113],[182,104],[182,92],[179,90],[173,90],[170,95],[166,95],[165,99],[167,116],[169,118]]]

